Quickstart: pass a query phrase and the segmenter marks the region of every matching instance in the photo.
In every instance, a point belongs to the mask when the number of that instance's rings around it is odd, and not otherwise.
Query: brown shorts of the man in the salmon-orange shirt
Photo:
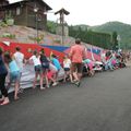
[[[73,72],[78,72],[78,73],[82,73],[83,70],[83,63],[72,63],[71,66],[71,71]]]

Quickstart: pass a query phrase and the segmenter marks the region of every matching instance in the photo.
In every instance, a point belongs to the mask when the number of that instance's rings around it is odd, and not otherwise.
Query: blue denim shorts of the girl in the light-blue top
[[[14,71],[14,72],[11,72],[10,73],[10,82],[16,82],[19,81],[20,82],[20,79],[21,79],[21,73],[20,71]]]

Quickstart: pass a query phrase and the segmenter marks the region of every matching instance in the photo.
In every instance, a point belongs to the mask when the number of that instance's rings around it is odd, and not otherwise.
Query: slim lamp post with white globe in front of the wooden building
[[[38,8],[34,8],[34,12],[35,12],[35,27],[36,27],[36,40],[38,44]]]

